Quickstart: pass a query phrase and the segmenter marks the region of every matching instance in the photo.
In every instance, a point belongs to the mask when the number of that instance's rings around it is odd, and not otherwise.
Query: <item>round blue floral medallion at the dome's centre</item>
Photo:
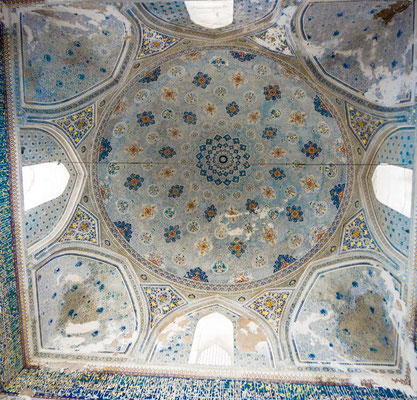
[[[213,139],[207,139],[197,154],[196,166],[200,169],[200,175],[216,185],[229,186],[232,182],[239,182],[250,167],[250,155],[246,148],[239,138],[230,135],[216,135]]]

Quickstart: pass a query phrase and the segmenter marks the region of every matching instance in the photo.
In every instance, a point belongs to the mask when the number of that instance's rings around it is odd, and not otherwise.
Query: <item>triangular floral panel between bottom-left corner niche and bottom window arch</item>
[[[148,300],[150,326],[155,324],[171,311],[188,304],[176,290],[169,286],[142,286]]]

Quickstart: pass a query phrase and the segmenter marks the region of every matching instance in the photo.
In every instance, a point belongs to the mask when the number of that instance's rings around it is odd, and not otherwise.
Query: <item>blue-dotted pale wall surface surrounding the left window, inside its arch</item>
[[[24,214],[26,243],[31,245],[50,233],[59,222],[77,179],[77,172],[64,148],[49,133],[37,129],[20,135],[22,165],[58,161],[70,175],[65,191],[57,198],[27,210]]]

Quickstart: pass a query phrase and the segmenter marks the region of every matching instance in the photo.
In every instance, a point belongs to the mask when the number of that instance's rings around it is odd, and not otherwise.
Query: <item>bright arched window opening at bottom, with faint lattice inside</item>
[[[232,365],[233,331],[233,323],[218,312],[201,318],[195,329],[189,363]]]

